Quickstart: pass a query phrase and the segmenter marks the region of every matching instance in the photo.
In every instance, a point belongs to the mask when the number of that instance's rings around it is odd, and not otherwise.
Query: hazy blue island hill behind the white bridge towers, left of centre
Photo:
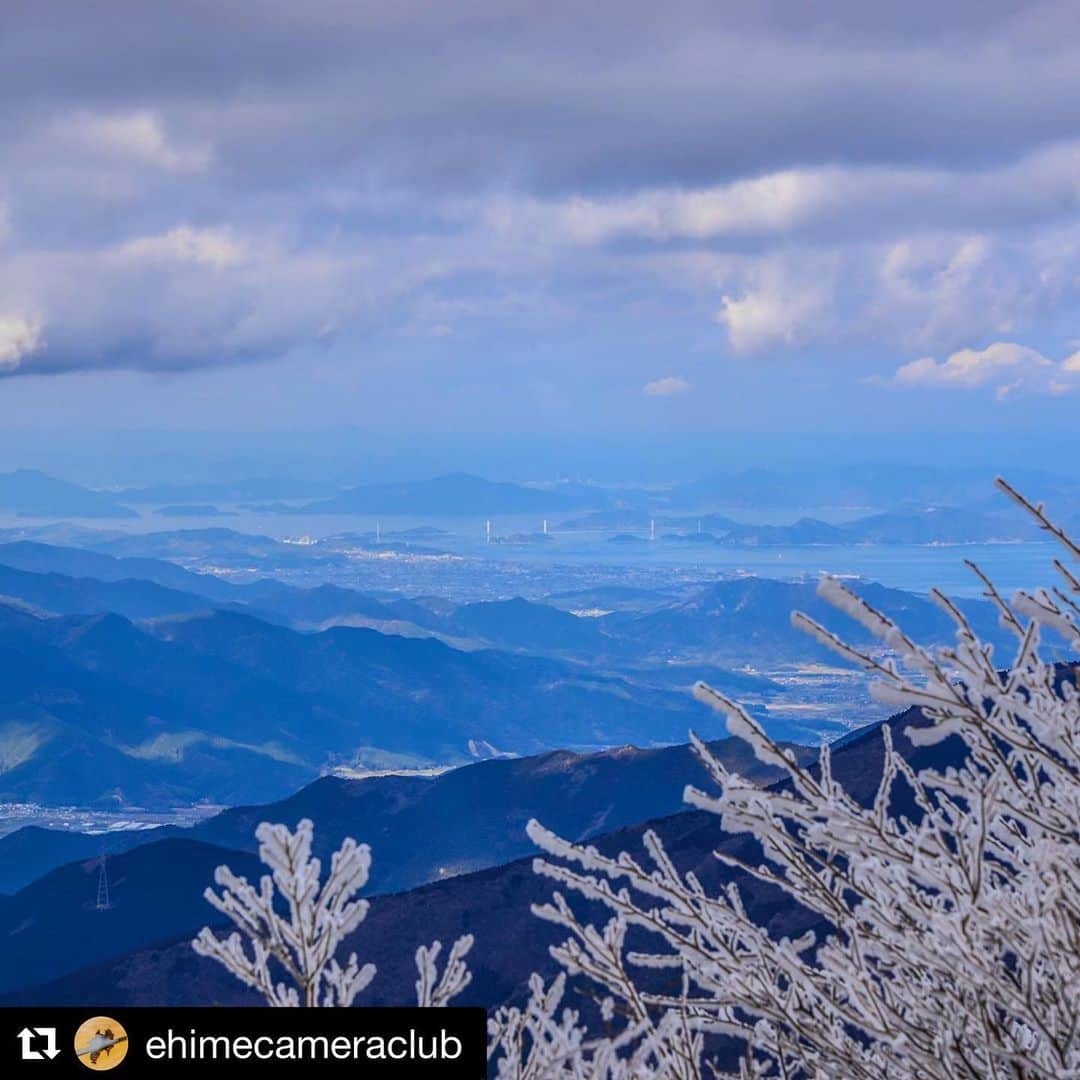
[[[603,497],[597,496],[595,501]],[[567,511],[590,504],[589,496],[558,489],[448,473],[427,481],[365,484],[299,509],[306,514],[433,514],[463,516]]]

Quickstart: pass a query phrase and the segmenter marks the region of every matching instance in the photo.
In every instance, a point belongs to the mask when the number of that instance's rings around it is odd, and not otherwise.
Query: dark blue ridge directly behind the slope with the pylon
[[[807,759],[816,753],[794,744],[791,748]],[[772,775],[745,743],[724,739],[713,750],[742,775]],[[395,892],[527,854],[524,824],[531,816],[584,838],[675,813],[686,784],[703,780],[701,765],[686,745],[622,746],[596,754],[552,751],[481,761],[433,777],[323,777],[279,802],[225,810],[190,828],[130,829],[105,837],[19,828],[0,837],[0,892],[16,892],[57,866],[93,859],[103,845],[110,856],[176,838],[254,853],[260,821],[294,824],[301,818],[318,825],[320,858],[362,824],[377,856],[372,888]]]

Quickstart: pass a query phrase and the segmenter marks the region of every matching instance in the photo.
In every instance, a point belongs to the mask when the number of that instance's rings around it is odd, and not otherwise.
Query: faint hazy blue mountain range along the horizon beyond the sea
[[[1077,486],[1038,471],[1013,475],[1035,499],[1069,505]],[[485,516],[489,514],[595,512],[572,526],[638,529],[653,517],[676,512],[828,508],[850,511],[907,511],[927,507],[1009,508],[995,496],[985,470],[865,464],[845,469],[747,469],[704,475],[697,481],[654,489],[588,483],[523,484],[451,472],[429,480],[374,482],[335,489],[320,477],[211,477],[183,484],[157,484],[120,491],[94,490],[31,469],[0,473],[0,512],[63,518],[137,516],[131,504],[172,507],[190,513],[202,505],[217,512],[219,502],[260,507],[283,514],[384,514],[387,516]],[[978,492],[973,497],[972,492]],[[292,499],[292,502],[283,502]],[[307,499],[307,501],[297,501]],[[720,516],[720,515],[715,515]],[[591,522],[592,524],[585,524]],[[692,526],[696,527],[696,526]],[[718,531],[711,527],[710,531]],[[887,542],[904,542],[889,540]]]

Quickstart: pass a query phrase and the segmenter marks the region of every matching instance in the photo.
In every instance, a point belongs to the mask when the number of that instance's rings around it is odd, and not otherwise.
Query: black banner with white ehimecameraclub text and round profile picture
[[[0,1009],[0,1075],[480,1080],[483,1009]]]

